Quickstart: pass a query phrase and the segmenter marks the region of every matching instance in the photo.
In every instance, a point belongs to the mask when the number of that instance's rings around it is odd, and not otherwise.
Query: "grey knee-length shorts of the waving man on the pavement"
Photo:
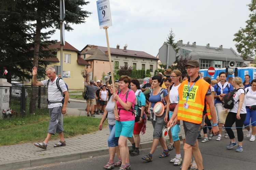
[[[64,130],[59,120],[61,116],[62,106],[49,108],[48,110],[49,110],[49,115],[51,117],[49,126],[48,126],[48,133],[55,135],[55,133],[63,132]]]

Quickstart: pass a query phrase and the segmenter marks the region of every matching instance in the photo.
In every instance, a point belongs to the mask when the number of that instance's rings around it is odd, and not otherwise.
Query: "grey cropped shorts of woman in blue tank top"
[[[152,114],[151,117],[154,117],[153,111],[152,110],[150,110],[150,111]],[[164,118],[165,118],[165,113],[160,117],[156,116],[156,120],[151,119],[151,123],[154,128],[153,139],[160,139],[160,137],[163,136],[162,130],[163,130],[163,126],[165,126]]]

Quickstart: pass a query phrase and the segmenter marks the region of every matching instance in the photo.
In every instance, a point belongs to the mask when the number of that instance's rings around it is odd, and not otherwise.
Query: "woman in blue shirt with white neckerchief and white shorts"
[[[216,139],[217,141],[221,140],[221,131],[222,131],[222,125],[225,122],[221,122],[219,120],[219,113],[222,110],[225,110],[225,108],[222,106],[222,98],[229,93],[230,91],[233,91],[233,86],[226,81],[227,79],[227,73],[222,71],[219,73],[219,82],[214,85],[214,99],[215,100],[215,108],[217,111],[217,117],[218,117],[218,126],[219,126],[219,135]],[[225,138],[228,138],[228,134],[225,131]]]

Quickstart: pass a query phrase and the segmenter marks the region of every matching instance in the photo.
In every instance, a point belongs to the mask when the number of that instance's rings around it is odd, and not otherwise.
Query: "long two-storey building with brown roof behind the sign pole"
[[[154,75],[157,69],[158,58],[143,51],[127,50],[127,45],[124,49],[120,49],[119,45],[116,48],[110,48],[110,54],[113,68],[126,65],[136,70],[150,69],[151,75]],[[81,50],[81,58],[90,64],[88,66],[90,80],[101,80],[103,72],[105,74],[110,72],[107,47],[86,45]]]

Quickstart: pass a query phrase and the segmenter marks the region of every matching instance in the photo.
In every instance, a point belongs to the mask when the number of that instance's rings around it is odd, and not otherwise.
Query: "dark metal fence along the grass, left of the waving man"
[[[0,86],[0,118],[48,114],[47,94],[44,87]]]

